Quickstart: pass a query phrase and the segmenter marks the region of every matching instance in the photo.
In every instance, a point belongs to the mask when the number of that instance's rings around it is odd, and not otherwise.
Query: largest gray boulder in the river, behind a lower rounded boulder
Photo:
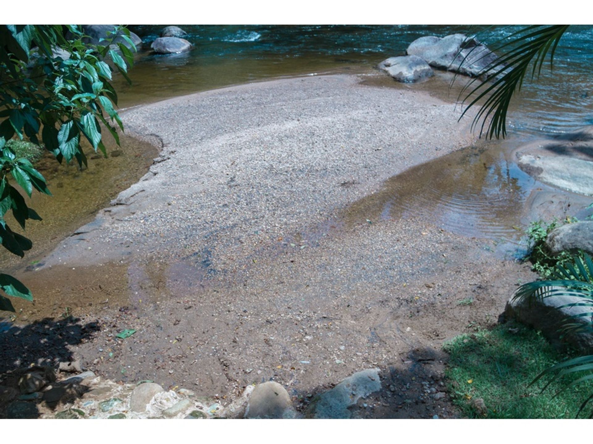
[[[479,76],[496,60],[495,53],[476,38],[468,38],[464,34],[417,38],[410,43],[406,54],[418,56],[433,67],[472,77]]]

